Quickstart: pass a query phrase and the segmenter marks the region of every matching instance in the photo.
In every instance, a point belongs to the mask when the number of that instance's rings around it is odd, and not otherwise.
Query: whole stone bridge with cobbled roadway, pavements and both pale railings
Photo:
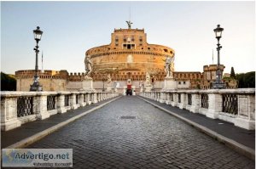
[[[73,149],[73,168],[254,168],[254,94],[1,93],[2,149]]]

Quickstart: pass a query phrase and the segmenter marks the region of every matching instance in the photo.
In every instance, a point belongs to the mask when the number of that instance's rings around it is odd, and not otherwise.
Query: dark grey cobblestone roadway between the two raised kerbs
[[[71,148],[74,168],[254,168],[254,161],[132,96],[29,148]]]

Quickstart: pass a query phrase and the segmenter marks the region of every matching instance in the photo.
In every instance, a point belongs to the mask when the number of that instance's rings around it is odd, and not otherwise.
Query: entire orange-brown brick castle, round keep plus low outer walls
[[[102,90],[111,76],[113,87],[120,90],[126,87],[126,82],[131,79],[132,85],[137,88],[150,75],[153,89],[160,90],[166,77],[165,59],[174,57],[172,48],[148,44],[147,34],[144,30],[115,29],[111,35],[111,42],[85,52],[85,57],[90,55],[93,64],[91,77],[96,90]],[[82,64],[82,63],[81,63]],[[217,65],[204,65],[203,72],[177,72],[173,73],[178,88],[211,88],[216,79]],[[220,65],[224,71],[224,65]],[[28,91],[32,84],[34,70],[18,70],[15,72],[17,90]],[[67,70],[39,71],[39,82],[44,91],[73,91],[79,88],[79,82],[84,80],[84,73],[68,73]],[[230,80],[229,80],[230,81]],[[117,85],[118,84],[118,85]],[[236,82],[226,82],[227,87],[237,87]]]

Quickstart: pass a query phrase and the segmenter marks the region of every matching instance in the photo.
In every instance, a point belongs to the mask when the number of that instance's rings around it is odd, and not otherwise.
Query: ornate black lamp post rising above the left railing
[[[33,84],[30,86],[30,91],[43,91],[43,87],[39,85],[39,76],[38,76],[38,42],[41,40],[43,31],[40,31],[40,27],[38,26],[36,30],[33,31],[34,32],[34,38],[37,42],[37,46],[34,48],[35,52],[36,52],[36,67],[35,67],[35,76],[34,76],[34,82]]]

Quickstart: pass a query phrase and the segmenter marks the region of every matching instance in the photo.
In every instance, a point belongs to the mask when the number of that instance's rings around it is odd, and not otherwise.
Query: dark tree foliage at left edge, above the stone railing
[[[1,91],[15,91],[16,79],[15,76],[7,75],[1,71]]]

